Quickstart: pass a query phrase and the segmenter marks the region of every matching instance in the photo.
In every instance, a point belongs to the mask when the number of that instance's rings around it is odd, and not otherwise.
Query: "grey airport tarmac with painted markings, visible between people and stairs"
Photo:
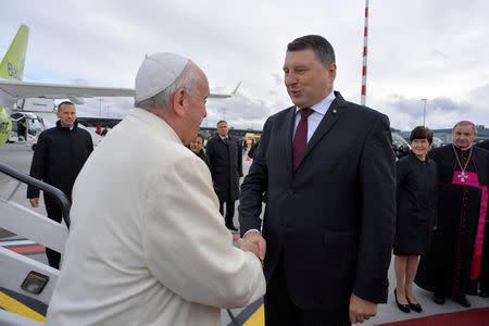
[[[25,143],[5,143],[0,147],[0,162],[4,163],[13,168],[16,168],[23,173],[28,174],[30,167],[30,161],[33,156],[33,150],[30,146],[26,146]],[[246,155],[243,155],[243,173],[244,175],[248,173],[251,161],[246,160]],[[0,173],[0,193],[4,190],[8,183],[11,181],[11,178],[2,173]],[[22,185],[20,189],[13,196],[13,201],[30,209],[30,204],[26,199],[26,185]],[[46,214],[46,210],[43,208],[42,200],[40,201],[41,206],[35,209],[37,212],[41,214]],[[238,205],[238,201],[236,202],[236,208]],[[1,214],[0,214],[1,218]],[[1,222],[0,222],[1,224]],[[238,224],[238,213],[235,214],[235,225]],[[18,239],[15,235],[9,233],[8,230],[0,228],[0,240],[11,240]],[[30,254],[29,258],[38,260],[42,263],[47,263],[46,256],[43,253],[40,254]],[[377,316],[371,318],[369,321],[363,323],[362,325],[371,326],[378,325],[384,323],[397,322],[397,321],[405,321],[410,318],[418,318],[435,314],[441,313],[451,313],[457,311],[466,311],[471,309],[478,308],[489,308],[489,299],[479,298],[476,296],[467,296],[468,300],[472,303],[472,308],[465,309],[457,303],[447,300],[446,304],[438,305],[431,300],[431,293],[425,291],[417,286],[414,286],[413,292],[418,303],[423,306],[422,313],[403,313],[401,312],[394,301],[393,289],[396,287],[396,276],[393,271],[393,260],[391,261],[391,265],[389,268],[389,296],[387,304],[379,304],[377,308]],[[261,309],[262,300],[259,302],[251,304],[244,309],[233,309],[231,313],[234,316],[237,316],[239,325],[263,325],[263,309]],[[254,313],[254,314],[253,314]],[[231,319],[229,318],[228,313],[223,310],[222,311],[222,323],[223,325],[235,325],[231,324]],[[488,321],[489,325],[489,321]]]

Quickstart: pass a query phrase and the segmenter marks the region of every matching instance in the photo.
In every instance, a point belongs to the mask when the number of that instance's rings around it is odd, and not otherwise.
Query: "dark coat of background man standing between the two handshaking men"
[[[242,177],[242,147],[229,137],[226,145],[218,135],[209,139],[205,147],[214,190],[220,201],[237,200],[239,177]],[[229,193],[229,198],[228,198]]]

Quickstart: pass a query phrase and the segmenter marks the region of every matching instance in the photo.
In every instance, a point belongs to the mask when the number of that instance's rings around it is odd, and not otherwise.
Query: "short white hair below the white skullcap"
[[[163,111],[170,104],[175,96],[175,92],[179,88],[183,87],[187,90],[187,92],[193,92],[193,89],[197,87],[200,78],[201,76],[198,74],[198,70],[196,66],[190,64],[189,61],[181,71],[181,74],[175,79],[175,82],[172,83],[172,85],[149,99],[135,102],[134,105],[151,112]]]

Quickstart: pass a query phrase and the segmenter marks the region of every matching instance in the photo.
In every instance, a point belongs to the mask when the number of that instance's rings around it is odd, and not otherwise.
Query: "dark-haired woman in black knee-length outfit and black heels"
[[[436,229],[437,166],[427,156],[432,131],[416,127],[410,136],[412,152],[397,162],[398,215],[393,244],[397,288],[394,298],[403,312],[422,312],[413,297],[419,255],[429,250]]]

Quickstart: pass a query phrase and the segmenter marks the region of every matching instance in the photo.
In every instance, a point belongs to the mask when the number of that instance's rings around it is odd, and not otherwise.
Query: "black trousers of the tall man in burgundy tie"
[[[324,293],[327,296],[327,293]],[[287,291],[280,255],[265,294],[266,326],[350,326],[349,306],[336,311],[304,311],[293,304]]]

